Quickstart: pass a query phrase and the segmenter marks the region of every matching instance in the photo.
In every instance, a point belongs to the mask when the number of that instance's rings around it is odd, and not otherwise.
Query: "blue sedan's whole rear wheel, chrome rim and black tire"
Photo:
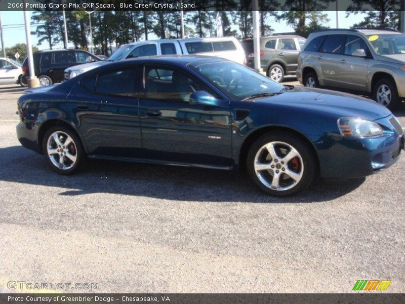
[[[44,136],[43,152],[47,163],[59,174],[72,174],[84,159],[84,149],[78,136],[63,126],[50,128]]]

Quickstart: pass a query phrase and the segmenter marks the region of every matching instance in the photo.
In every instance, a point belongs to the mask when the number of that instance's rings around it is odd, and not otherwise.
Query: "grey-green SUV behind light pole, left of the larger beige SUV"
[[[285,75],[295,75],[298,53],[305,41],[304,37],[297,35],[260,37],[260,65],[267,77],[275,82],[282,82]],[[253,39],[243,40],[241,45],[248,57],[248,66],[253,68]]]

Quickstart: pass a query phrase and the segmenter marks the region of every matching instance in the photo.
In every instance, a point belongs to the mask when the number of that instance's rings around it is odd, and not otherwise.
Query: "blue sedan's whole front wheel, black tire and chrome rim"
[[[287,197],[307,188],[314,179],[316,161],[302,139],[288,132],[268,133],[251,146],[248,172],[265,193]]]

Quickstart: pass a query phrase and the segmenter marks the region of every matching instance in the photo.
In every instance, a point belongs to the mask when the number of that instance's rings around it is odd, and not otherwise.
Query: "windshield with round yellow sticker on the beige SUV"
[[[367,39],[377,54],[405,54],[405,35],[403,34],[368,35]]]

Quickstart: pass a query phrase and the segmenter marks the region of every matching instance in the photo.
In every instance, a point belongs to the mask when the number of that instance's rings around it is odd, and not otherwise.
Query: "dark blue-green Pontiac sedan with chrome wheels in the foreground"
[[[86,159],[247,169],[289,196],[315,177],[366,176],[404,148],[376,102],[282,86],[222,58],[166,56],[103,65],[18,100],[17,136],[58,173]]]

